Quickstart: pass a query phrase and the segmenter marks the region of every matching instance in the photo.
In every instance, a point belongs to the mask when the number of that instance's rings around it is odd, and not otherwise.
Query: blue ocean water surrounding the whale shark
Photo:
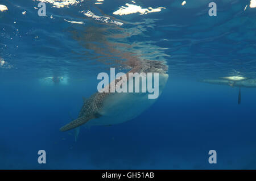
[[[0,169],[256,169],[256,88],[242,87],[238,105],[237,87],[200,82],[256,78],[254,1],[216,1],[217,16],[212,1],[182,2],[0,0]],[[122,124],[81,127],[77,142],[60,132],[98,73],[126,71],[131,57],[166,61],[155,104]]]

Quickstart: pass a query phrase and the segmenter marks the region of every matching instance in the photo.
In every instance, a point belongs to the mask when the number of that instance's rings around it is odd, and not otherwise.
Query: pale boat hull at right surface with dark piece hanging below
[[[227,85],[231,87],[239,87],[238,104],[241,104],[241,87],[256,87],[256,79],[246,77],[222,77],[219,79],[204,79],[201,82],[212,83],[217,85]]]

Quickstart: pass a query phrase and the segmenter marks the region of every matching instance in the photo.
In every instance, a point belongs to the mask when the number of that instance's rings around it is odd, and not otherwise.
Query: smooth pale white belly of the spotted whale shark
[[[166,85],[168,74],[159,74],[159,96]],[[109,95],[98,112],[101,117],[86,125],[113,125],[134,119],[150,107],[156,99],[148,99],[147,93],[113,93]]]

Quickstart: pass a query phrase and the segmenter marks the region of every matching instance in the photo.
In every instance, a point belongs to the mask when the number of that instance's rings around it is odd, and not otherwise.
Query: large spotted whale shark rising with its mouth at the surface
[[[168,80],[168,66],[164,61],[143,60],[138,61],[126,73],[159,73],[159,95],[162,94],[166,82]],[[118,82],[114,80],[114,84],[110,83],[107,89]],[[106,88],[104,88],[106,89]],[[69,131],[76,128],[76,139],[81,125],[114,125],[124,123],[125,121],[134,119],[144,110],[150,107],[156,99],[148,99],[145,92],[96,92],[88,99],[84,99],[77,119],[64,125],[60,131]]]

